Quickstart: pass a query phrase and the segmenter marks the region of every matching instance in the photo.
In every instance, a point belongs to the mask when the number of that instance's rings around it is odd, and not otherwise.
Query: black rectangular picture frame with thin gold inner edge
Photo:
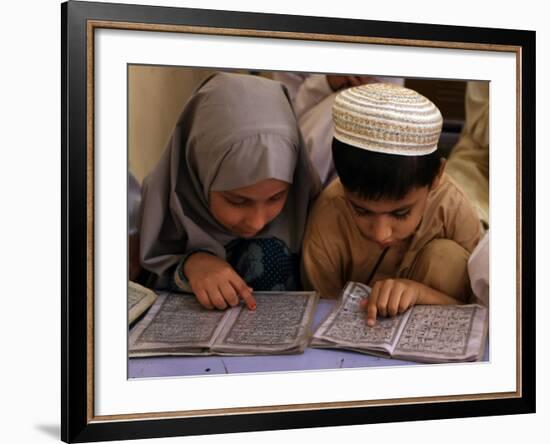
[[[535,412],[535,32],[520,30],[427,25],[355,19],[290,16],[263,13],[137,6],[69,1],[61,5],[62,23],[62,383],[61,435],[65,442],[138,439],[276,430],[336,425],[370,424]],[[95,25],[91,23],[95,23]],[[103,25],[98,23],[103,23]],[[342,40],[369,37],[386,42],[431,42],[438,47],[460,45],[506,46],[516,51],[518,74],[518,155],[521,182],[521,232],[518,291],[517,392],[492,399],[427,403],[389,402],[353,408],[286,409],[192,417],[146,415],[138,419],[98,418],[93,414],[93,148],[89,106],[90,33],[94,26],[132,29],[138,24],[233,30],[237,34],[265,33],[288,38]],[[167,28],[168,29],[168,28]],[[275,34],[273,34],[275,33]],[[527,112],[528,111],[528,112]],[[93,300],[93,298],[92,298]],[[490,397],[489,397],[490,398]]]

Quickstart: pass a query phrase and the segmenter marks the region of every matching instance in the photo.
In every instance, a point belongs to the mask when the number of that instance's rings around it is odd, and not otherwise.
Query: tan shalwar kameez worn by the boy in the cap
[[[467,301],[468,257],[480,238],[478,215],[466,194],[446,174],[428,195],[417,230],[392,245],[371,285],[401,277]],[[339,179],[316,201],[304,236],[302,274],[306,288],[336,298],[348,281],[365,282],[383,248],[359,230]]]

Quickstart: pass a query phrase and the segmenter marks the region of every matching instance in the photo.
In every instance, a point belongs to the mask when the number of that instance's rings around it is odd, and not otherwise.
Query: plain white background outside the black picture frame
[[[271,2],[223,0],[118,1],[537,31],[537,393],[535,415],[260,432],[159,439],[168,443],[279,442],[521,442],[546,431],[550,420],[548,378],[550,287],[542,254],[550,246],[544,222],[549,208],[544,174],[550,161],[543,132],[550,112],[550,29],[543,2],[454,3]],[[269,4],[267,4],[269,3]],[[60,2],[27,0],[2,6],[0,27],[0,436],[6,443],[55,442],[60,416]],[[7,285],[6,285],[7,284]],[[526,295],[529,297],[529,295]],[[532,295],[535,297],[535,295]],[[28,312],[24,312],[27,310]],[[535,438],[537,441],[537,439]],[[539,438],[540,441],[540,438]]]

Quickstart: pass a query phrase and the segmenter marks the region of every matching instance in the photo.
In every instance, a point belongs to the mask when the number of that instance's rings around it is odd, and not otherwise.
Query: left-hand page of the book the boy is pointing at
[[[359,308],[359,303],[368,297],[370,290],[365,284],[349,282],[340,304],[314,333],[311,345],[391,353],[409,311],[393,318],[378,318],[374,327],[367,326],[366,312]]]

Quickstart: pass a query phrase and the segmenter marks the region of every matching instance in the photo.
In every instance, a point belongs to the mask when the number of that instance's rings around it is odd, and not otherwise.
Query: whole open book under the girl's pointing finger
[[[130,331],[129,356],[301,353],[311,339],[315,292],[255,292],[256,310],[203,308],[190,293],[159,295]]]

